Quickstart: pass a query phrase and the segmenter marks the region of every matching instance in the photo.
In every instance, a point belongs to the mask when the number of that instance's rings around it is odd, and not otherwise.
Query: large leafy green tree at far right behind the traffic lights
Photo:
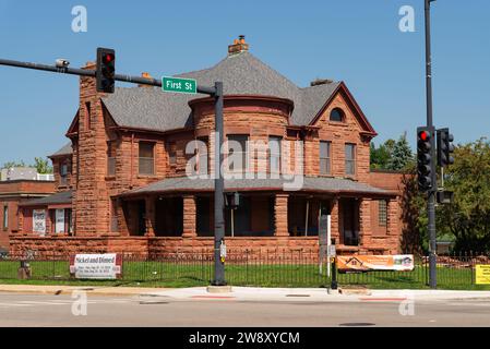
[[[454,192],[454,202],[437,206],[437,236],[454,237],[455,251],[489,251],[490,143],[480,139],[458,145],[454,159],[454,164],[445,169],[444,176],[444,189]],[[403,185],[402,248],[407,253],[427,253],[427,194],[418,190],[414,164],[408,165]]]

